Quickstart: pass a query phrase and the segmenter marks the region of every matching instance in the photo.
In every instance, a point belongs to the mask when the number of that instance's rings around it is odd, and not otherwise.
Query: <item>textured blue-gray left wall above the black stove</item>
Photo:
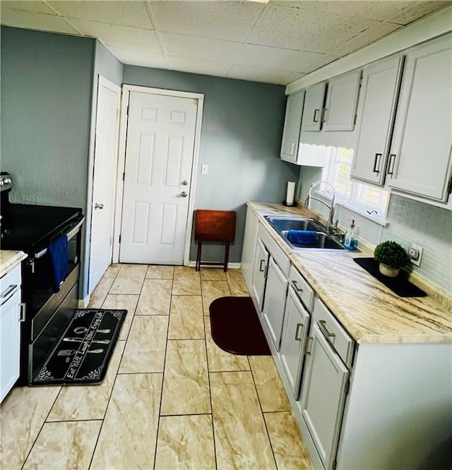
[[[1,28],[1,170],[16,203],[86,205],[95,40]]]

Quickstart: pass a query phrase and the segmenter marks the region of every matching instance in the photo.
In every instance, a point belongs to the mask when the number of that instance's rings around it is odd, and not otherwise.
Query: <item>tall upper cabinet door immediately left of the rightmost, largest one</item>
[[[392,57],[364,68],[352,178],[379,185],[384,183],[403,59],[403,56]]]

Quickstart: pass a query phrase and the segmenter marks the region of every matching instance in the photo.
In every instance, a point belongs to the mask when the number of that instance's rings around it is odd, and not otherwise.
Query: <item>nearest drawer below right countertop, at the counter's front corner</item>
[[[331,344],[336,353],[338,353],[338,356],[344,361],[345,365],[350,367],[352,365],[355,342],[318,297],[314,299],[312,320],[313,327],[318,325],[322,335]]]

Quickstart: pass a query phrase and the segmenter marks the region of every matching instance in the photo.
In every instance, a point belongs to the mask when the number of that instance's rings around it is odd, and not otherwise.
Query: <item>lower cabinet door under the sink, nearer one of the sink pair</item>
[[[263,318],[266,321],[268,332],[277,351],[280,350],[281,332],[283,331],[283,318],[285,300],[287,296],[287,278],[270,258],[268,264],[267,287],[265,302],[263,304]]]

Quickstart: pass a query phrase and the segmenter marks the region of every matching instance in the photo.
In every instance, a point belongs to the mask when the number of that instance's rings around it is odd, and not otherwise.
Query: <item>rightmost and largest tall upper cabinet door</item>
[[[387,183],[437,202],[448,199],[452,142],[452,35],[410,49]]]

